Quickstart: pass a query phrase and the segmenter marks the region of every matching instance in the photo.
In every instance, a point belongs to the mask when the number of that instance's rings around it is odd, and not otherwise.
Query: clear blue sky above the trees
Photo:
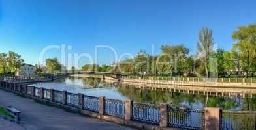
[[[163,44],[184,44],[195,53],[198,31],[210,27],[217,47],[229,50],[238,26],[256,22],[256,1],[168,0],[0,0],[0,52],[16,51],[35,64],[48,45],[71,45],[68,53],[89,53],[109,45],[120,57]],[[60,57],[57,50],[47,57]],[[99,49],[99,63],[114,60]],[[80,61],[84,64],[87,60]]]

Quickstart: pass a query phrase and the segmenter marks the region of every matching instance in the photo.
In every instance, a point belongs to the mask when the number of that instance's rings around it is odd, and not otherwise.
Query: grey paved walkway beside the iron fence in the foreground
[[[102,122],[80,114],[67,112],[57,107],[50,107],[35,102],[33,99],[23,98],[0,89],[0,105],[11,105],[22,112],[20,125],[28,130],[131,130],[116,123]],[[1,124],[0,124],[1,125]]]

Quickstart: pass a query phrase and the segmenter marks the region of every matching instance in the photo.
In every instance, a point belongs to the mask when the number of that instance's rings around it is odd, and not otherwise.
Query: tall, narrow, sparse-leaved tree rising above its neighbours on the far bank
[[[212,29],[203,27],[199,31],[199,42],[197,42],[197,50],[204,64],[206,77],[209,77],[209,63],[210,63],[210,53],[212,53],[214,47],[214,40],[212,37]]]

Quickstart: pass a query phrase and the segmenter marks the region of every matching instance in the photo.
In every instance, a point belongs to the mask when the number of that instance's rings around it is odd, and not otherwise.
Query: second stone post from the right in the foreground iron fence
[[[160,105],[160,127],[167,127],[167,104]]]

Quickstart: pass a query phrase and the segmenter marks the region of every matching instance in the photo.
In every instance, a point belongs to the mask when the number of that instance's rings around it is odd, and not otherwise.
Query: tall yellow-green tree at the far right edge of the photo
[[[242,66],[248,77],[249,69],[256,57],[256,24],[238,27],[238,31],[233,32],[232,38],[236,40],[234,48],[241,53]]]

